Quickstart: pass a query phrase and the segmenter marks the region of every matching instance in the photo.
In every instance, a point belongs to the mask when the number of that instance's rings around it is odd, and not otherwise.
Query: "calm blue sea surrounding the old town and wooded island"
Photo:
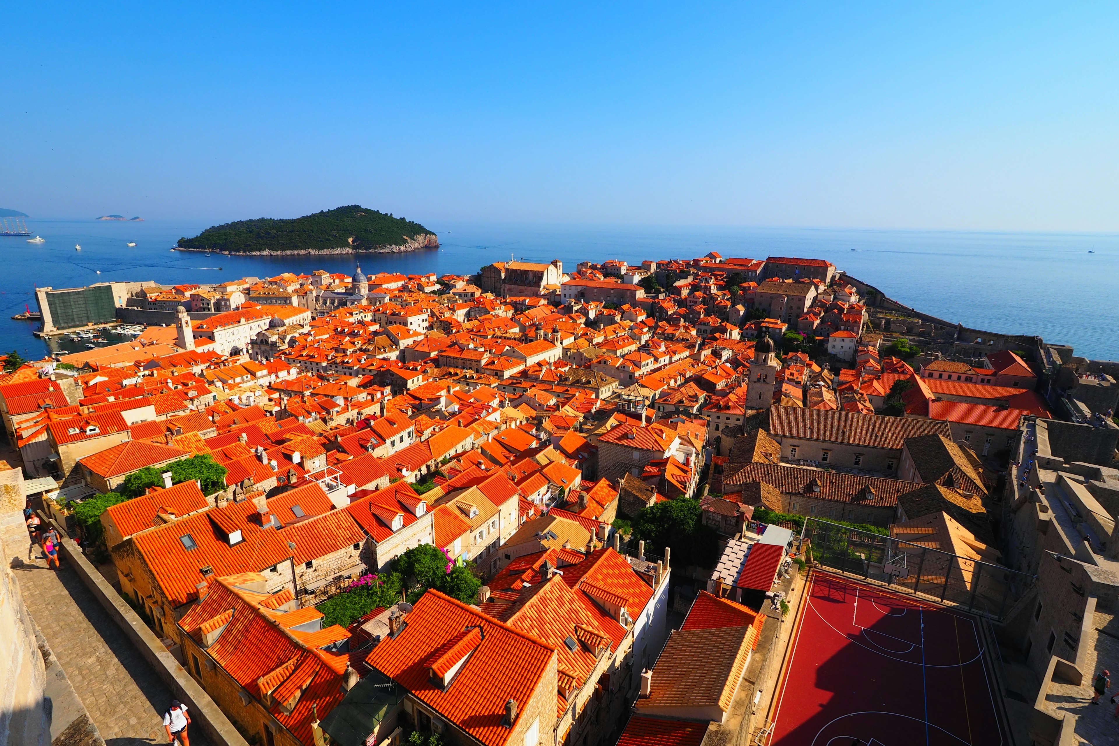
[[[36,285],[74,287],[109,280],[216,282],[323,268],[349,272],[351,256],[206,256],[168,251],[205,221],[119,223],[28,219],[46,244],[0,237],[0,350],[41,357],[35,322],[12,321]],[[1119,235],[799,228],[695,228],[431,223],[439,251],[357,257],[366,273],[476,272],[515,256],[526,261],[700,256],[827,258],[891,298],[949,321],[996,332],[1035,333],[1088,358],[1119,360]],[[137,242],[134,248],[125,244]],[[76,252],[74,244],[82,245]],[[1094,251],[1094,253],[1089,253]],[[101,274],[97,274],[97,271]],[[119,341],[110,339],[110,341]],[[64,349],[76,350],[65,342]],[[84,347],[81,347],[84,349]]]

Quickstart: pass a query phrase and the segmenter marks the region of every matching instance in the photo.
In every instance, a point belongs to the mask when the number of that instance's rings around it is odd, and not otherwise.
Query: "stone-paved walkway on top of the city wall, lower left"
[[[166,744],[171,692],[63,560],[48,569],[36,548],[13,574],[36,624],[107,746]],[[191,746],[206,746],[197,726]]]

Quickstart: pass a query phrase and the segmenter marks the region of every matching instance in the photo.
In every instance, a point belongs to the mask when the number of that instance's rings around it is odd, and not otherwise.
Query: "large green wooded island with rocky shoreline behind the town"
[[[179,239],[181,251],[231,254],[364,254],[438,247],[435,234],[419,223],[360,205],[290,220],[237,220]]]

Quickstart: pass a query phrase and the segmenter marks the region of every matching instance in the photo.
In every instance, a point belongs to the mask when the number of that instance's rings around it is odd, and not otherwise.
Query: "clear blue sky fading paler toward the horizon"
[[[34,216],[1119,230],[1115,3],[22,2],[3,26],[0,207]]]

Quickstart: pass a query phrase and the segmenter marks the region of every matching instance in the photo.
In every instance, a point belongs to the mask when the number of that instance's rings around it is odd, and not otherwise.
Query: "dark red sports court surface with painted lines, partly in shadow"
[[[971,616],[826,573],[803,603],[770,746],[1007,743]]]

